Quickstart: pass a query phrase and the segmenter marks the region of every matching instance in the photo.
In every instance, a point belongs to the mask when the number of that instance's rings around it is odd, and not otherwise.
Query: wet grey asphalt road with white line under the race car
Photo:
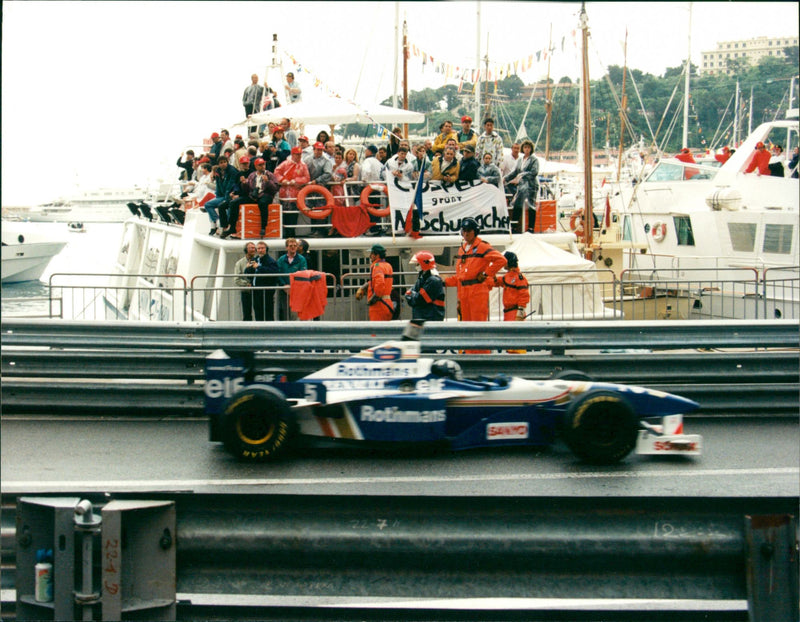
[[[241,464],[210,443],[205,420],[4,417],[6,494],[194,491],[243,494],[800,497],[797,419],[687,419],[700,457],[630,455],[598,467],[557,443],[391,454],[297,450]]]

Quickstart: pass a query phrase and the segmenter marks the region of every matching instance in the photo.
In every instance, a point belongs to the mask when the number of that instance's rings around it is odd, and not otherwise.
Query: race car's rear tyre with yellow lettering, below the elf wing
[[[248,462],[265,462],[280,456],[295,432],[289,404],[272,387],[240,391],[222,414],[225,449]]]

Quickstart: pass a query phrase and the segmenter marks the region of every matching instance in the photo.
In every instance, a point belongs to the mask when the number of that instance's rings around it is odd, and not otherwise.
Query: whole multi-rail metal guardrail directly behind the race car
[[[205,357],[213,350],[255,351],[256,365],[296,377],[348,352],[397,339],[403,327],[9,320],[1,333],[3,406],[6,412],[90,413],[113,404],[116,411],[140,416],[199,415]],[[577,369],[596,380],[679,392],[701,403],[702,414],[798,409],[800,333],[791,322],[510,322],[499,333],[486,329],[484,323],[431,324],[423,352],[456,358],[471,376],[503,372],[543,379],[559,369]],[[505,351],[522,346],[527,352]],[[466,348],[493,353],[459,353]],[[45,381],[47,392],[41,390]]]

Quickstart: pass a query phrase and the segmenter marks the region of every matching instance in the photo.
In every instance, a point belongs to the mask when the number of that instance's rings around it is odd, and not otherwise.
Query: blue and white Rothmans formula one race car
[[[698,455],[682,413],[698,404],[661,391],[586,380],[467,380],[452,360],[420,356],[421,326],[288,382],[255,374],[218,351],[206,363],[210,438],[246,461],[282,454],[298,436],[377,444],[442,443],[451,449],[550,445],[560,434],[576,456],[609,464],[644,454]],[[640,417],[660,418],[658,423]]]

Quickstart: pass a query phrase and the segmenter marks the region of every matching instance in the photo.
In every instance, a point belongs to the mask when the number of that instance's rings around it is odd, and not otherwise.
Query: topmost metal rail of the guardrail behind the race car
[[[217,348],[357,351],[399,339],[405,322],[80,322],[18,320],[3,322],[0,343],[71,349],[117,347],[213,350]],[[583,350],[650,348],[797,348],[798,322],[585,321],[585,322],[430,322],[423,351],[488,348],[507,350]]]

